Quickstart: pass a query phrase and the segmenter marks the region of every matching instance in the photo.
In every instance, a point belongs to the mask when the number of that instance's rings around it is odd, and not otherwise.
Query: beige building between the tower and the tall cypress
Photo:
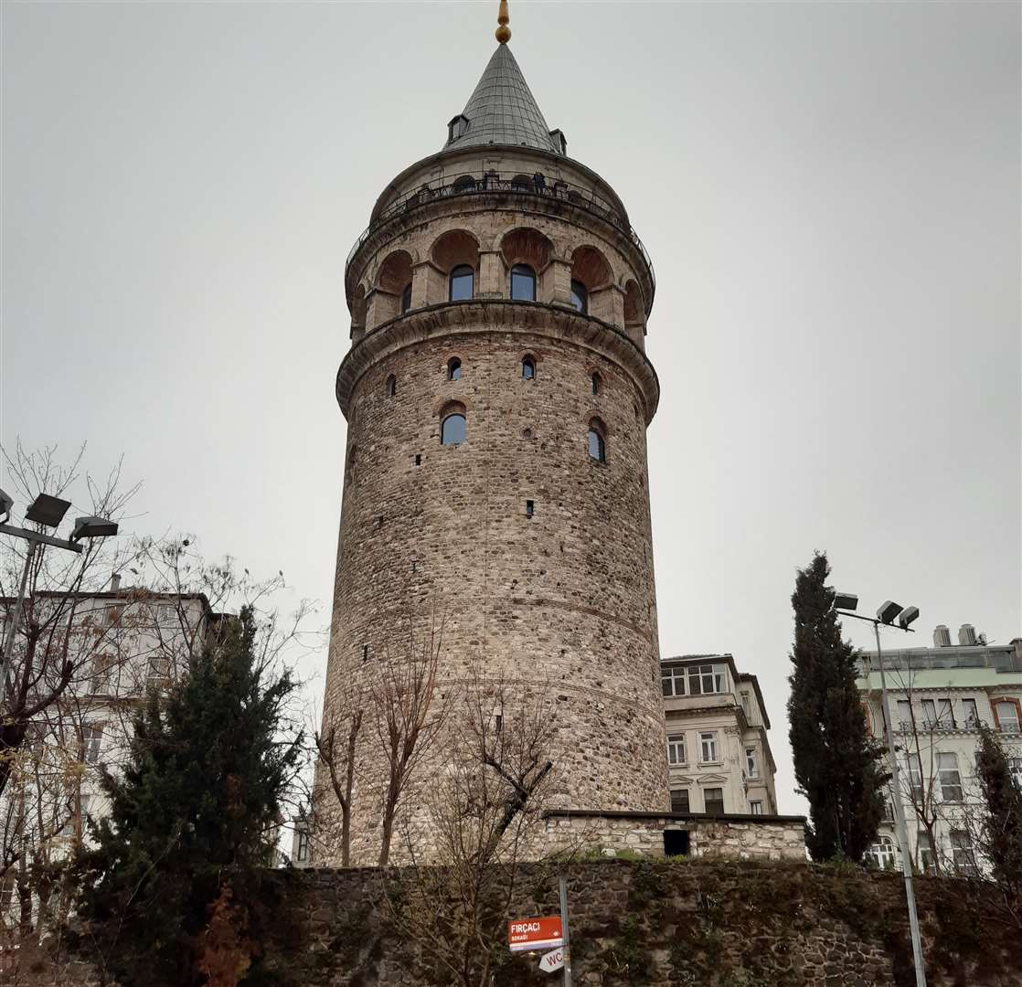
[[[770,717],[755,675],[723,655],[660,661],[670,808],[776,815]]]

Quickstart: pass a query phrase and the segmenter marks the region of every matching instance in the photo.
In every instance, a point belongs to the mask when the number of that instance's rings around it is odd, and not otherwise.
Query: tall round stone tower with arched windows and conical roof
[[[502,16],[443,149],[386,186],[347,258],[324,723],[407,614],[439,601],[442,682],[471,663],[555,701],[559,807],[664,810],[653,271],[614,190],[548,128],[509,37]],[[363,748],[370,777],[381,757]],[[352,862],[372,863],[380,812],[362,784]]]

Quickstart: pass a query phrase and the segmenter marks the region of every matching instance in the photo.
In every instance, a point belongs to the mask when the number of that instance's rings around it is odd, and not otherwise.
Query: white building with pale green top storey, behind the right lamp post
[[[1022,639],[988,644],[971,624],[963,624],[953,644],[941,624],[932,648],[885,649],[883,659],[913,860],[920,870],[975,873],[984,865],[972,836],[980,807],[980,723],[997,732],[1022,786]],[[882,738],[876,652],[864,653],[860,665],[857,685],[870,729]],[[871,850],[883,867],[900,866],[892,796],[889,789],[887,818]]]

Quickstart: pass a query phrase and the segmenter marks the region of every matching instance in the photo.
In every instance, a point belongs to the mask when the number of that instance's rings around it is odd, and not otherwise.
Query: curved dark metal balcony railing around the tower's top
[[[584,188],[580,185],[572,185],[570,182],[562,182],[559,179],[547,180],[542,177],[541,181],[536,181],[527,175],[501,174],[500,172],[483,172],[478,175],[465,173],[459,175],[450,182],[429,182],[413,192],[408,192],[400,198],[388,202],[373,222],[362,232],[362,236],[355,241],[355,246],[349,251],[347,260],[344,262],[344,275],[352,264],[352,258],[359,252],[359,248],[369,238],[369,234],[381,223],[387,222],[397,216],[402,216],[420,205],[435,202],[437,199],[452,198],[456,195],[481,195],[493,192],[508,192],[514,195],[531,195],[545,199],[568,202],[577,205],[589,213],[599,216],[613,226],[616,226],[623,233],[626,233],[632,242],[642,253],[643,261],[649,269],[649,278],[653,291],[656,291],[656,276],[653,273],[653,262],[646,252],[646,247],[639,234],[632,229],[629,221],[621,215],[620,209],[597,194],[593,189]],[[650,298],[652,301],[652,298]]]

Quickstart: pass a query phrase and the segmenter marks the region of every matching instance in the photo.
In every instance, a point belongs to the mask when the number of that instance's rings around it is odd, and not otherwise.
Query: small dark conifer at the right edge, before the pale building
[[[993,880],[1013,900],[1022,899],[1022,791],[1012,779],[1004,748],[989,726],[980,726],[976,777],[983,795],[980,849]]]

